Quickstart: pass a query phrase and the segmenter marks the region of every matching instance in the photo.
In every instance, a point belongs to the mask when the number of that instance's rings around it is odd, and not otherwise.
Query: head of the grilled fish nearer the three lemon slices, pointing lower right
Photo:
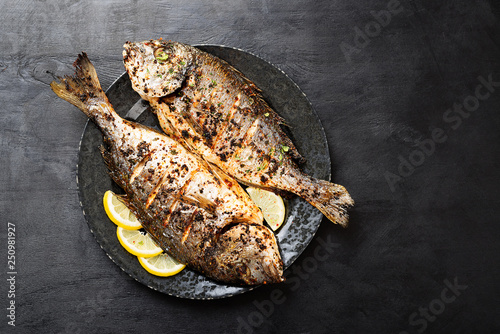
[[[233,225],[219,238],[218,250],[218,271],[227,281],[248,285],[284,281],[276,238],[263,225]]]

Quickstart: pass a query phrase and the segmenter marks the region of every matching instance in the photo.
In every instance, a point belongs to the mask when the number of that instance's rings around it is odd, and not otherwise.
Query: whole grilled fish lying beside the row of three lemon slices
[[[110,175],[157,244],[221,282],[283,281],[274,234],[239,184],[172,138],[121,118],[85,53],[74,66],[74,76],[51,87],[99,127]]]

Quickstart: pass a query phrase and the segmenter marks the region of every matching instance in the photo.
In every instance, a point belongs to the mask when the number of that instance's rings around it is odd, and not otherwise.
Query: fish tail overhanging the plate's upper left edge
[[[92,113],[95,112],[95,108],[90,108],[90,106],[99,101],[109,103],[106,94],[101,88],[94,65],[85,52],[78,55],[73,66],[76,68],[74,75],[58,77],[59,82],[53,81],[50,87],[57,96],[93,118]]]

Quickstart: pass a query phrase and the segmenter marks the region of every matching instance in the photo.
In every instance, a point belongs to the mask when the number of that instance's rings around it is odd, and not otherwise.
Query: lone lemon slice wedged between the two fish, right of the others
[[[252,201],[262,210],[269,227],[276,231],[285,220],[285,203],[283,203],[281,196],[254,187],[248,187],[247,192]]]

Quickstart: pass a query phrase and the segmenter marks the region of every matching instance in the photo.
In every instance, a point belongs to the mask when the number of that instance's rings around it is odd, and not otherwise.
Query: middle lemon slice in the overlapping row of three
[[[120,244],[130,254],[142,257],[156,256],[163,252],[163,249],[158,247],[149,234],[138,230],[126,230],[118,226],[116,235]]]

